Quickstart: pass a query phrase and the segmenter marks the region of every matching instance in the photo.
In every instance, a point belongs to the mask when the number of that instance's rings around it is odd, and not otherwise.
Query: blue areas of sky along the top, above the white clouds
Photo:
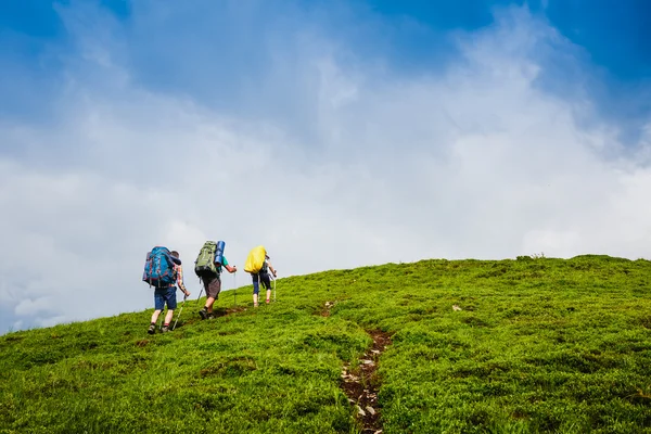
[[[230,89],[231,94],[225,99],[232,108],[242,99],[242,81],[246,77],[255,81],[258,69],[265,68],[269,62],[267,53],[260,51],[258,46],[259,38],[266,30],[263,28],[256,34],[245,28],[235,29],[233,23],[238,23],[238,26],[240,23],[231,21],[235,13],[229,5],[232,2],[215,3],[217,7],[205,1],[182,7],[184,15],[167,17],[165,25],[174,28],[168,35],[169,39],[154,33],[158,40],[148,41],[145,34],[138,34],[131,27],[135,15],[144,8],[127,0],[98,2],[115,18],[114,29],[124,33],[125,43],[135,44],[130,53],[132,59],[129,61],[146,86],[191,91],[188,76],[202,75],[195,66],[199,63],[205,64],[200,59],[209,55],[212,48],[196,49],[195,56],[191,55],[186,65],[175,65],[171,62],[174,56],[165,53],[167,44],[171,46],[171,50],[176,48],[174,39],[178,34],[174,33],[184,34],[186,41],[194,42],[195,46],[203,36],[203,28],[213,27],[213,35],[237,37],[232,47],[231,41],[221,41],[224,44],[219,54],[228,67],[225,68],[221,64],[204,66],[206,74],[230,84],[225,88]],[[311,21],[327,31],[334,33],[336,29],[341,34],[339,38],[349,43],[352,50],[369,58],[381,58],[388,67],[410,74],[427,74],[445,67],[454,60],[458,55],[458,49],[449,36],[455,31],[472,33],[488,27],[495,23],[496,11],[511,5],[524,5],[574,43],[577,48],[576,55],[592,66],[589,72],[585,72],[592,79],[586,91],[604,116],[626,124],[624,135],[637,137],[640,122],[651,113],[651,99],[647,98],[651,86],[651,48],[647,43],[651,40],[651,4],[644,0],[358,0],[339,3],[295,0],[276,2],[272,7],[261,1],[242,3],[248,7],[245,8],[246,11],[238,13],[247,14],[252,26],[269,28],[284,25],[291,28],[291,23],[282,22],[283,14],[288,13],[296,18]],[[39,93],[51,91],[51,80],[56,80],[54,77],[63,67],[53,52],[75,50],[74,37],[65,26],[61,9],[76,4],[81,3],[26,0],[3,2],[0,7],[0,29],[5,47],[2,53],[3,64],[10,63],[11,67],[18,68],[26,75],[24,79],[34,85]],[[197,23],[196,12],[208,9],[210,12]],[[227,30],[222,31],[220,27]],[[193,28],[199,31],[193,34]],[[162,31],[162,28],[152,28],[152,31]],[[244,54],[244,51],[247,53]],[[550,62],[562,60],[553,59]],[[565,69],[561,68],[564,73]],[[554,80],[558,81],[556,78]],[[7,84],[0,88],[3,100],[13,103],[10,103],[10,111],[14,114],[43,108],[40,99],[34,95],[15,95],[15,88]],[[564,92],[566,89],[562,88],[560,91]],[[226,91],[221,90],[215,97],[221,97],[221,100],[224,92]],[[196,94],[200,93],[196,91]],[[250,112],[251,107],[243,110]]]

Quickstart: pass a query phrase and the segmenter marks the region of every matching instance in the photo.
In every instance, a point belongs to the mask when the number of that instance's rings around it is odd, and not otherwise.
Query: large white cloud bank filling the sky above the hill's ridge
[[[426,257],[648,256],[649,136],[630,152],[616,126],[575,122],[589,100],[537,86],[541,47],[573,48],[522,10],[459,38],[461,59],[419,77],[350,66],[324,36],[308,38],[265,76],[285,93],[260,95],[279,106],[261,120],[144,89],[115,61],[124,44],[95,51],[84,38],[95,54],[71,69],[58,122],[0,119],[5,144],[33,150],[0,153],[0,301],[14,314],[0,326],[150,307],[140,277],[156,244],[181,253],[197,294],[206,239],[225,240],[240,266],[263,243],[281,276]],[[286,68],[302,74],[294,90]]]

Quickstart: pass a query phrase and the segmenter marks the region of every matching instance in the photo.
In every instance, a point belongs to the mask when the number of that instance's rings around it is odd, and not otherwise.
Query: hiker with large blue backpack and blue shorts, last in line
[[[186,297],[190,296],[190,292],[183,284],[183,267],[181,266],[181,259],[179,258],[179,253],[177,251],[169,252],[165,247],[154,247],[150,255],[148,255],[145,275],[148,275],[148,265],[150,259],[152,260],[152,264],[154,264],[156,260],[158,261],[157,270],[161,276],[157,278],[152,278],[152,271],[149,271],[149,278],[146,279],[146,281],[150,284],[153,284],[155,288],[154,312],[152,314],[150,327],[146,332],[149,334],[154,334],[156,332],[156,322],[158,321],[158,316],[165,308],[165,305],[167,305],[167,314],[165,315],[165,320],[161,327],[161,332],[166,333],[169,331],[169,323],[174,318],[174,309],[177,307],[177,288],[175,286],[175,283],[183,292]],[[151,270],[152,268],[155,268],[155,265],[150,265],[149,267]],[[143,278],[143,280],[145,279]]]

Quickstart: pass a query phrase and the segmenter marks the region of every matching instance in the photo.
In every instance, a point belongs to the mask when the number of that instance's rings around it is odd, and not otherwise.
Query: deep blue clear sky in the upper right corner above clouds
[[[495,8],[527,4],[532,12],[545,16],[564,37],[584,48],[590,61],[608,69],[613,78],[648,80],[651,75],[647,43],[651,39],[651,4],[644,0],[371,1],[371,4],[386,16],[417,20],[431,35],[487,26],[494,21]],[[418,53],[422,47],[413,43],[414,39],[400,43],[407,55]]]

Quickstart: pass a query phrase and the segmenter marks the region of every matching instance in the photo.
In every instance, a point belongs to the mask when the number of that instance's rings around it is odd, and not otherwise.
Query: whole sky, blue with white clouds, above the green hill
[[[195,295],[205,240],[237,266],[264,244],[281,277],[649,258],[650,17],[644,0],[3,1],[0,333],[151,307],[158,244]]]

